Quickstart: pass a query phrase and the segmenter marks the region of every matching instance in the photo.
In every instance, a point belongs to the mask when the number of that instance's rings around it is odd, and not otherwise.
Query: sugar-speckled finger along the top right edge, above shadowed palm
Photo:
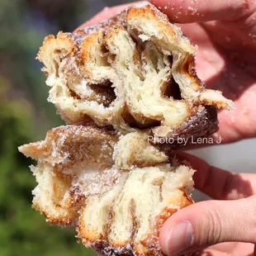
[[[190,23],[196,21],[238,20],[254,11],[252,0],[151,0],[171,21]]]

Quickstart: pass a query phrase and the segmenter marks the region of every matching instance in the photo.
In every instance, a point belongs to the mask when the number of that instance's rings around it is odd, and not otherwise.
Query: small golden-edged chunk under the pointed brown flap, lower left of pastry
[[[55,172],[54,168],[47,169],[45,166],[31,168],[31,170],[39,183],[33,191],[33,207],[36,211],[40,211],[51,225],[76,225],[78,210],[83,205],[83,197],[72,194],[72,178]],[[48,183],[40,177],[39,173],[43,170],[45,178],[50,179]],[[49,171],[50,173],[47,173]],[[66,197],[65,200],[64,197]]]

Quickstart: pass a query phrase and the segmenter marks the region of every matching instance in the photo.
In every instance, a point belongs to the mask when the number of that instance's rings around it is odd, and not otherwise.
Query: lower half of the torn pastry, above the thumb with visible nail
[[[21,146],[38,161],[31,167],[38,183],[33,205],[52,224],[77,226],[83,243],[103,255],[161,255],[159,229],[192,204],[194,170],[169,164],[145,134],[119,136],[92,126],[60,126],[45,140]],[[113,158],[115,150],[121,154]]]

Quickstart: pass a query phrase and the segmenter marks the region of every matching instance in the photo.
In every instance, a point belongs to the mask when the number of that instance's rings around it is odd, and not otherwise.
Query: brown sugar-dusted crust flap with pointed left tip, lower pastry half
[[[112,154],[118,139],[113,130],[93,126],[59,126],[48,131],[45,140],[23,145],[19,150],[26,157],[55,168],[61,164],[62,170],[74,168],[82,162],[98,164],[98,168],[104,169],[113,164]]]

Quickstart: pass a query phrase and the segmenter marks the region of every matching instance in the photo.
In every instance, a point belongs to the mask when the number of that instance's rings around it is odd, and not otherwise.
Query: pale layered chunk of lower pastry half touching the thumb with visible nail
[[[102,255],[163,255],[159,230],[174,212],[192,204],[193,171],[169,164],[135,168],[112,190],[88,197],[78,237]]]

